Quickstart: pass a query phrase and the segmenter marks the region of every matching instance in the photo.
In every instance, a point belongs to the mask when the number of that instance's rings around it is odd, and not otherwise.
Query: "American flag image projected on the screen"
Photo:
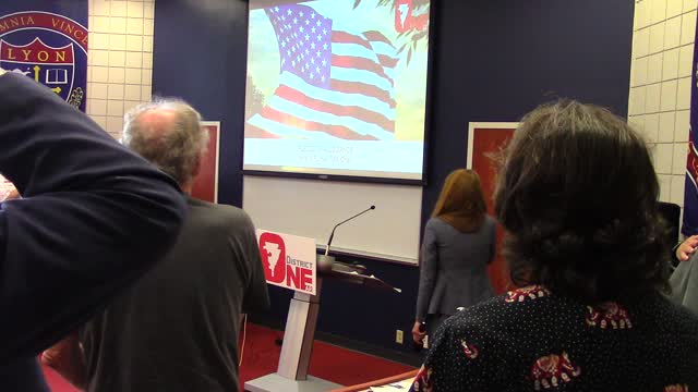
[[[396,49],[380,32],[352,32],[308,5],[265,9],[280,58],[279,86],[245,136],[395,138]]]

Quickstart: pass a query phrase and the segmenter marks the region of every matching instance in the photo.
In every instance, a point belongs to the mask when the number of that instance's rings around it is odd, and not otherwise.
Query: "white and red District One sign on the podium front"
[[[257,230],[266,282],[315,295],[317,265],[315,238]]]

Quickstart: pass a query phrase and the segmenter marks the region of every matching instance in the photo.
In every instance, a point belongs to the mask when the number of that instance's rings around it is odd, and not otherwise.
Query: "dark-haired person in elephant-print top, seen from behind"
[[[576,101],[527,114],[495,189],[517,289],[436,332],[414,391],[698,389],[698,318],[669,292],[648,147]]]

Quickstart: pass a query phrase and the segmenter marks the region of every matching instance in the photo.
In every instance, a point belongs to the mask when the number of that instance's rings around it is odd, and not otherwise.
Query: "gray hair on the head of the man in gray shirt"
[[[153,111],[171,112],[173,119],[149,121],[144,114]],[[177,98],[158,98],[124,115],[122,143],[184,184],[193,177],[206,152],[208,133],[201,125],[201,114],[189,103]]]

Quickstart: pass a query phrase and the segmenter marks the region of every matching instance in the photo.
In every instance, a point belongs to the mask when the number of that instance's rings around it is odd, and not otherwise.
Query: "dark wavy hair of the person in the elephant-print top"
[[[495,213],[514,284],[585,303],[669,292],[657,174],[623,119],[576,101],[544,105],[502,157]]]

